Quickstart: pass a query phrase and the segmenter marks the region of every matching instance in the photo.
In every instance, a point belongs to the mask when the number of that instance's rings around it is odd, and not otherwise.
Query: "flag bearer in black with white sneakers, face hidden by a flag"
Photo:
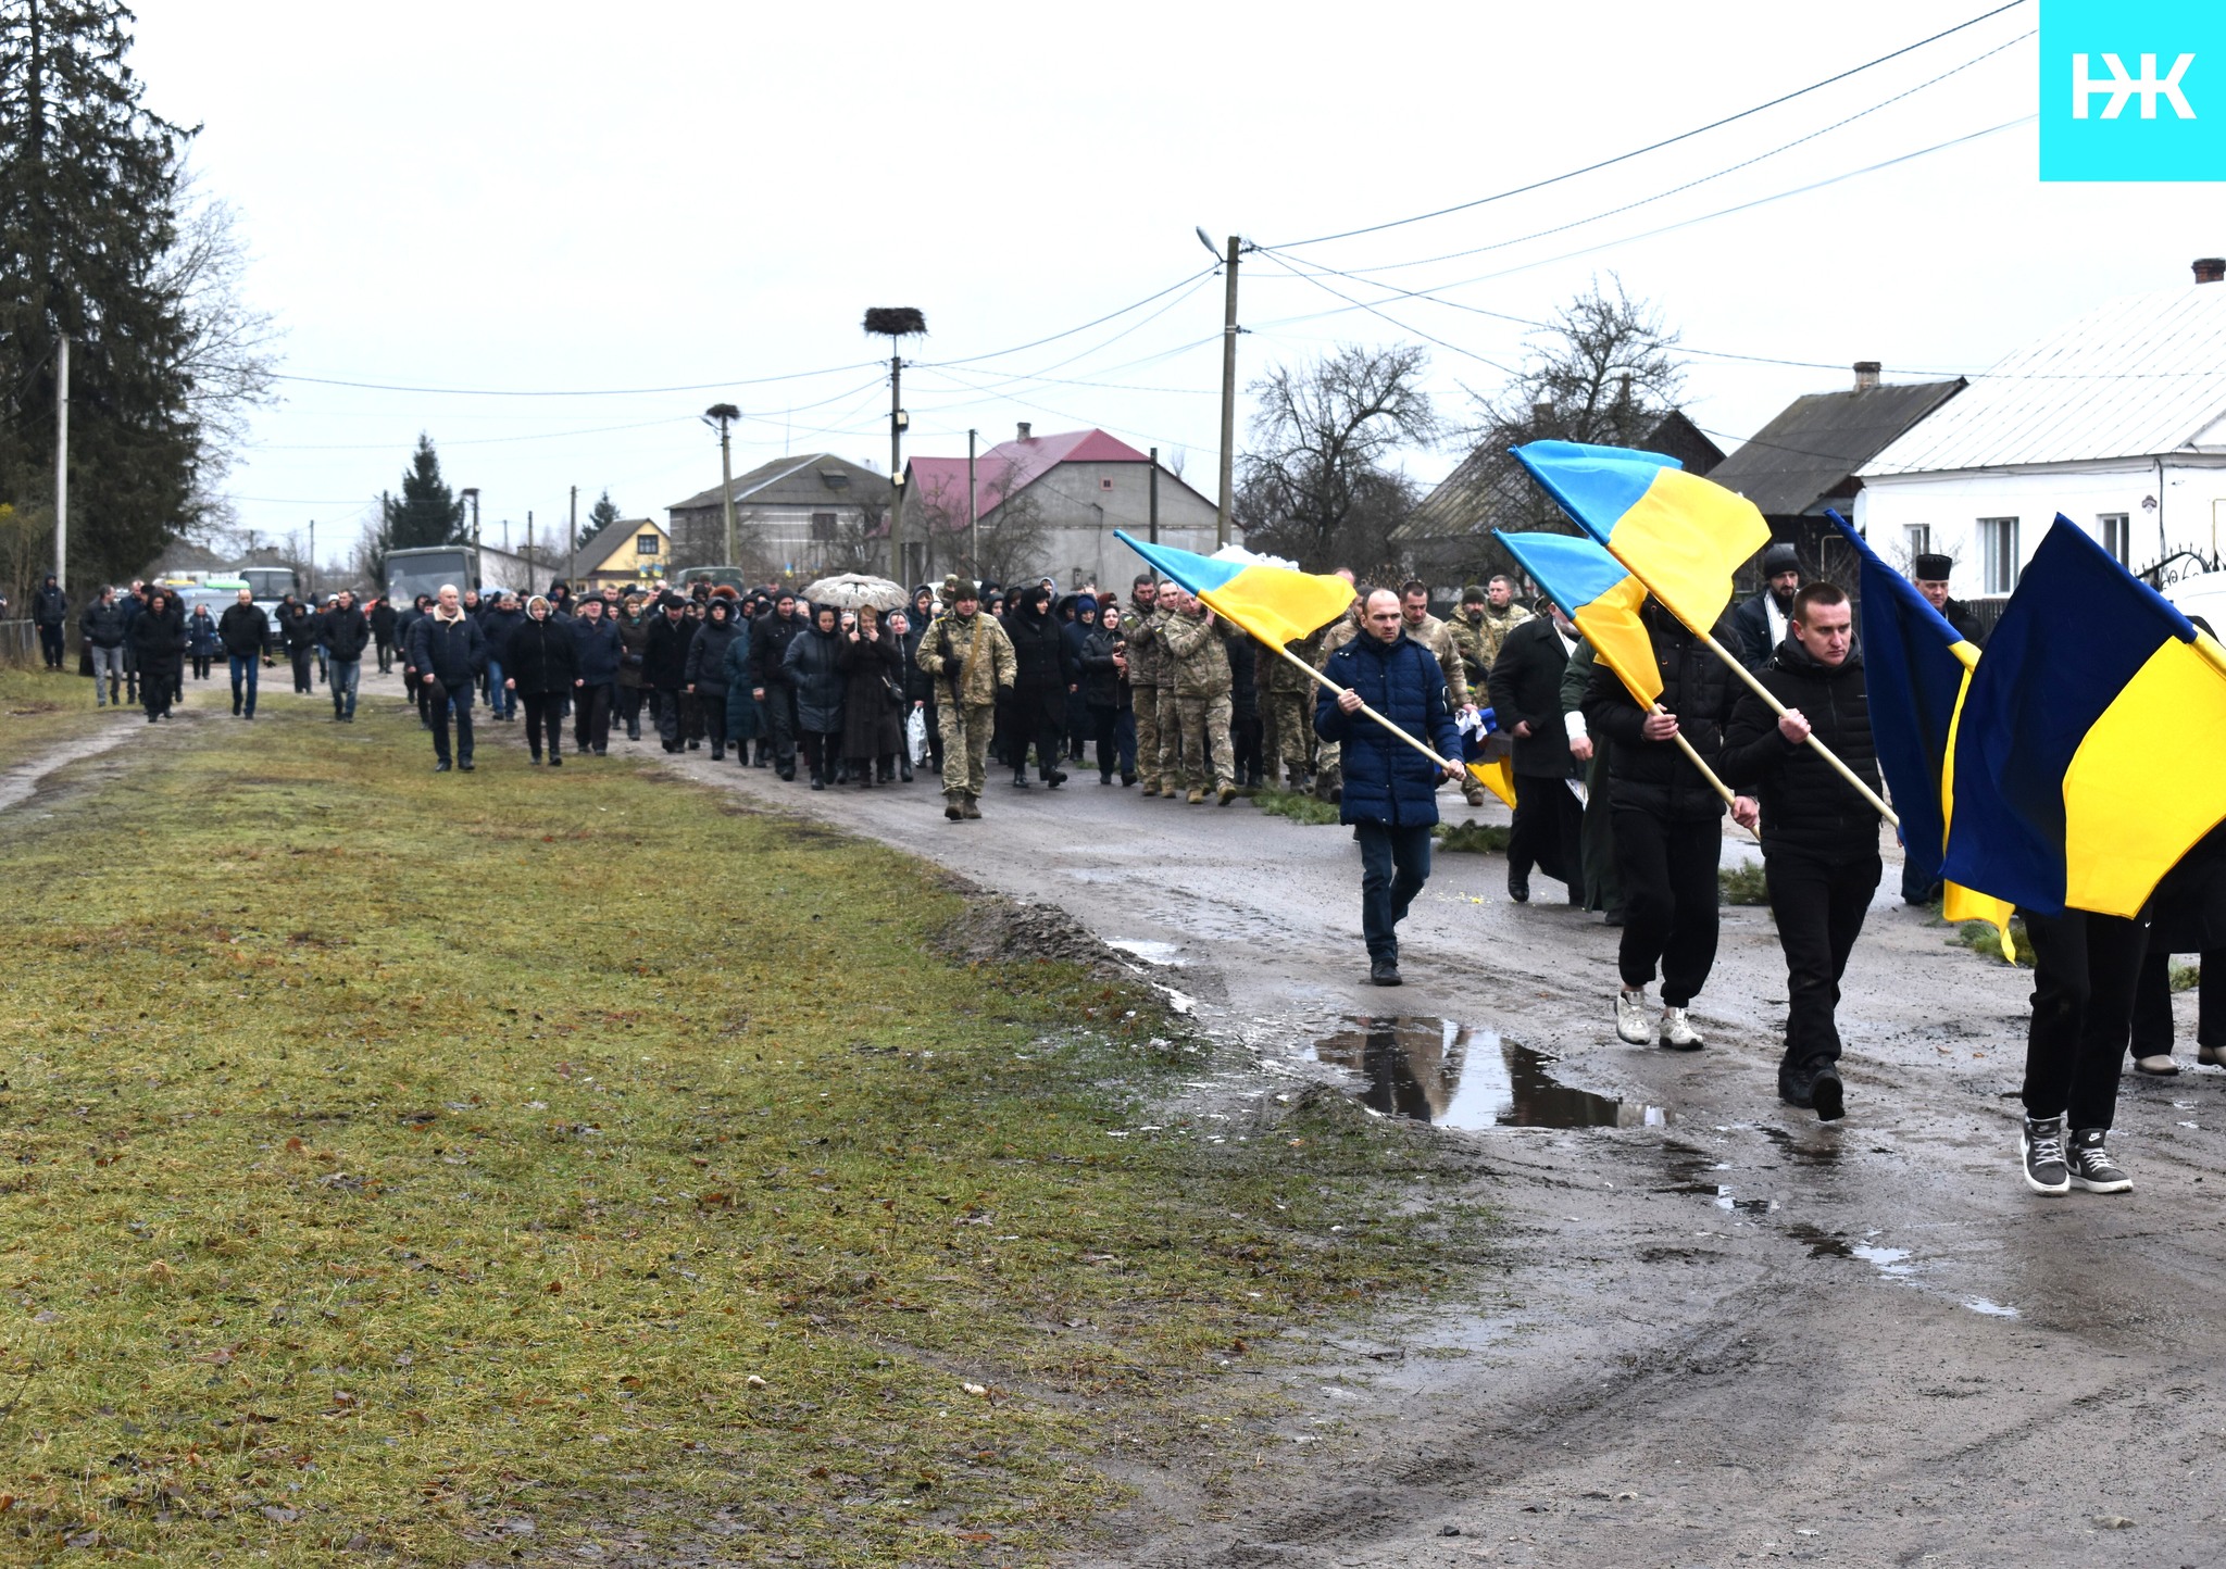
[[[1707,1042],[1685,1017],[1716,964],[1716,868],[1723,859],[1723,799],[1678,750],[1685,737],[1701,761],[1723,752],[1732,717],[1732,672],[1652,599],[1641,612],[1654,643],[1663,694],[1643,710],[1603,659],[1585,685],[1585,730],[1607,746],[1607,806],[1614,819],[1616,879],[1623,884],[1623,944],[1616,959],[1616,1035],[1645,1046],[1698,1050]],[[1732,637],[1725,621],[1718,643]],[[1663,975],[1661,1024],[1649,1028],[1647,981]]]

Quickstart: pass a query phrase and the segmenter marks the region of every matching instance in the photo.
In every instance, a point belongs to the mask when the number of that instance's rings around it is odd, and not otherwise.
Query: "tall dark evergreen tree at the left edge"
[[[200,423],[171,269],[191,131],[142,102],[118,0],[0,0],[0,499],[53,505],[69,334],[71,576],[122,576],[191,516]],[[82,581],[82,579],[80,579]]]

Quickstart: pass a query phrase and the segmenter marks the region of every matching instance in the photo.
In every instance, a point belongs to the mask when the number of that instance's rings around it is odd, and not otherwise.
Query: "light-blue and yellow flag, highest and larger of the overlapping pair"
[[[1703,637],[1732,603],[1732,572],[1770,543],[1770,525],[1752,501],[1687,474],[1661,452],[1531,441],[1514,456],[1578,527]]]

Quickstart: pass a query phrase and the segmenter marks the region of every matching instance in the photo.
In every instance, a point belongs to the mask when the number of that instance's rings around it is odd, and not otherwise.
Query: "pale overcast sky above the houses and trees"
[[[868,305],[928,316],[908,452],[1102,425],[1211,494],[1222,292],[1193,225],[1291,247],[1467,203],[1986,9],[145,0],[134,65],[151,107],[205,125],[196,165],[240,211],[287,376],[588,394],[283,383],[232,481],[240,521],[318,519],[329,559],[421,430],[512,543],[570,485],[628,516],[715,485],[715,401],[746,414],[737,470],[812,450],[886,467]],[[1696,356],[1692,409],[1734,447],[1850,361],[1979,369],[2095,300],[2186,283],[2226,251],[2219,187],[2041,185],[2035,24],[2028,0],[1612,169],[1253,258],[1240,376],[1427,334],[1458,414],[1523,354],[1525,329],[1478,309],[1538,318],[1614,272],[1694,349],[1828,367]],[[1287,269],[1307,265],[1376,287]],[[654,387],[692,389],[630,392]],[[1409,454],[1425,478],[1454,461]]]

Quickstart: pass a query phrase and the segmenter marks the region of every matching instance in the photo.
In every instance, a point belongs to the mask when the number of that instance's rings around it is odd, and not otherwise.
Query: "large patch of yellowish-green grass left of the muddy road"
[[[1040,1562],[1093,1455],[1253,1467],[1280,1329],[1483,1257],[1340,1097],[1151,1117],[1206,1046],[946,957],[917,861],[492,726],[434,777],[385,701],[243,732],[0,817],[13,1553]]]

